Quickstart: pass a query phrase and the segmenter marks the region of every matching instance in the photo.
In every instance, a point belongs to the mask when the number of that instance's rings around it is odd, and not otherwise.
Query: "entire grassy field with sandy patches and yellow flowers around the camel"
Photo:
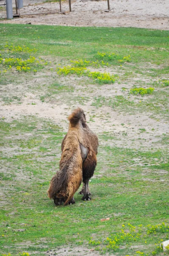
[[[169,31],[0,24],[0,35],[0,253],[168,255]],[[56,207],[47,190],[78,106],[99,137],[92,200]]]

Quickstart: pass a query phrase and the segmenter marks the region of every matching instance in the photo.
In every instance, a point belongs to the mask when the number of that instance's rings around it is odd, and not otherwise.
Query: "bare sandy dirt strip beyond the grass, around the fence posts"
[[[0,23],[123,26],[169,30],[168,0],[110,0],[109,12],[105,12],[106,0],[73,0],[72,12],[69,12],[68,0],[65,0],[62,1],[62,14],[59,13],[59,3],[56,2],[39,3],[39,0],[25,0],[23,3],[20,18],[0,20]],[[0,10],[0,18],[6,18],[5,9]]]

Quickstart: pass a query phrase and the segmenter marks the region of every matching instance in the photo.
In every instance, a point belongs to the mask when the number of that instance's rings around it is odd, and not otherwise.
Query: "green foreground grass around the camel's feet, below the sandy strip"
[[[41,128],[37,129],[37,124],[40,124]],[[2,188],[8,183],[8,204],[2,207],[1,211],[1,250],[4,253],[9,251],[3,249],[4,244],[10,244],[12,255],[17,255],[17,247],[21,243],[23,251],[34,253],[36,248],[36,251],[43,255],[45,249],[64,244],[89,243],[88,246],[96,247],[101,253],[110,251],[121,255],[129,253],[129,248],[135,244],[144,244],[144,253],[150,255],[152,251],[157,250],[160,239],[164,240],[168,236],[166,229],[162,235],[158,233],[158,229],[163,225],[162,221],[165,227],[167,225],[167,173],[163,173],[164,181],[161,183],[161,172],[157,172],[158,169],[168,170],[168,165],[163,164],[162,151],[137,151],[101,146],[96,175],[103,173],[105,169],[107,171],[101,175],[102,177],[92,178],[92,201],[84,202],[81,200],[82,196],[76,193],[75,205],[54,207],[46,191],[52,175],[59,166],[56,152],[60,152],[64,136],[62,129],[43,119],[36,119],[35,123],[34,117],[25,118],[20,122],[3,121],[1,128],[6,149],[13,145],[20,148],[18,153],[20,150],[23,153],[10,156],[6,154],[8,151],[4,151],[1,154],[4,168],[8,166],[11,170],[10,174],[3,173],[2,176]],[[13,136],[25,132],[31,132],[29,138],[17,140]],[[11,134],[11,138],[6,140],[8,134]],[[42,137],[43,134],[45,139]],[[101,136],[105,141],[111,138],[108,134]],[[31,154],[28,153],[30,149],[33,150]],[[142,179],[146,169],[139,165],[133,166],[133,159],[138,157],[143,166],[152,170],[146,174],[147,180]],[[156,166],[157,159],[160,166]],[[101,222],[101,218],[110,218],[110,221]],[[126,228],[121,227],[121,223]],[[129,232],[128,223],[137,227]],[[141,234],[138,225],[143,225]],[[124,231],[121,231],[121,228]],[[20,232],[20,229],[23,231]],[[150,234],[147,234],[148,231]],[[96,238],[91,239],[91,234]],[[41,246],[41,239],[45,239],[47,247]],[[26,241],[31,244],[28,248],[24,245]],[[116,241],[115,244],[113,241]],[[146,244],[151,246],[147,247]],[[132,249],[133,255],[136,251],[138,250]]]

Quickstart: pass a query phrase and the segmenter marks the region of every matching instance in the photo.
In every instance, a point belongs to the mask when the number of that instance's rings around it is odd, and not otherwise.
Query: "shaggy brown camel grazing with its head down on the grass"
[[[49,198],[53,198],[56,205],[62,202],[65,205],[74,204],[73,195],[79,189],[82,179],[82,200],[91,199],[88,183],[97,163],[98,137],[88,127],[84,111],[77,108],[68,120],[68,133],[62,141],[60,168],[48,189]]]

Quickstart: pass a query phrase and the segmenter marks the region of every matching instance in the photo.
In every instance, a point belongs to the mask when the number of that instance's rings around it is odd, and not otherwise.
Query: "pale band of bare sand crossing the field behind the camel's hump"
[[[10,93],[12,94],[12,87],[15,86],[11,84],[10,87]],[[24,93],[26,97],[23,97],[22,104],[1,105],[0,118],[4,117],[7,122],[11,122],[14,119],[22,118],[22,116],[37,116],[37,118],[51,120],[51,122],[59,125],[66,132],[68,130],[67,117],[74,108],[79,106],[85,111],[88,121],[90,120],[90,116],[94,116],[92,118],[94,122],[89,122],[89,126],[93,131],[97,134],[108,132],[111,137],[115,137],[114,140],[108,140],[107,142],[101,141],[101,144],[108,143],[110,146],[137,149],[159,148],[159,146],[165,148],[165,145],[161,144],[161,137],[163,134],[169,132],[169,126],[163,119],[156,121],[150,117],[150,113],[121,113],[105,105],[100,108],[92,105],[94,96],[101,95],[107,97],[117,94],[114,90],[115,84],[112,86],[109,84],[108,87],[109,90],[107,90],[107,85],[103,85],[93,93],[86,91],[85,97],[88,97],[90,100],[85,102],[85,105],[73,103],[71,107],[70,103],[61,103],[59,99],[57,101],[57,98],[54,99],[55,103],[42,102],[38,99],[39,97],[37,95],[27,92]],[[110,90],[111,87],[113,87],[112,90]],[[20,84],[20,91],[24,92],[24,90],[24,84]],[[118,88],[118,91],[120,92],[120,88]],[[79,85],[75,85],[75,90],[72,94],[73,99],[76,99],[79,93],[81,93],[79,91]],[[32,105],[32,102],[35,105]],[[141,132],[140,129],[143,128],[145,132]]]

